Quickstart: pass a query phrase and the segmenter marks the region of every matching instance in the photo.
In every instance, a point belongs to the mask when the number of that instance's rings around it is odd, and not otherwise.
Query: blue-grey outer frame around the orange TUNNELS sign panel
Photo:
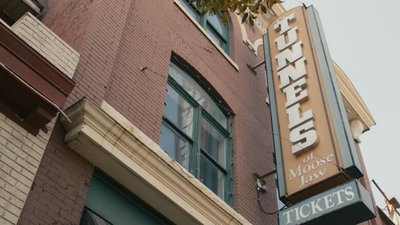
[[[329,105],[327,110],[329,110],[332,120],[332,124],[330,124],[330,126],[333,127],[332,130],[334,130],[336,135],[337,149],[338,149],[337,151],[339,151],[340,153],[342,160],[341,166],[344,169],[344,171],[342,171],[341,173],[337,173],[335,176],[332,176],[328,179],[325,179],[324,182],[317,182],[314,185],[311,185],[299,192],[287,195],[286,192],[287,184],[285,181],[285,173],[284,173],[285,171],[283,165],[285,159],[283,159],[283,154],[282,154],[282,143],[279,131],[280,125],[277,113],[277,100],[274,90],[275,86],[274,86],[273,76],[276,75],[273,74],[273,69],[272,69],[272,60],[275,60],[275,57],[271,56],[269,33],[267,32],[263,36],[263,41],[264,41],[264,54],[266,59],[265,66],[267,71],[268,94],[270,99],[271,124],[272,124],[273,143],[274,143],[273,145],[274,145],[274,153],[276,159],[278,196],[279,199],[281,199],[283,202],[287,204],[295,203],[307,197],[310,197],[314,194],[320,193],[321,187],[323,187],[324,183],[325,184],[327,183],[327,180],[332,181],[334,179],[338,179],[338,177],[340,176],[345,176],[347,180],[363,177],[361,164],[358,159],[357,150],[355,148],[350,125],[347,120],[347,114],[343,104],[342,95],[338,87],[336,75],[333,69],[332,60],[329,54],[328,45],[326,42],[326,38],[324,35],[324,31],[322,28],[318,12],[315,10],[313,6],[310,6],[308,8],[297,7],[279,16],[273,23],[271,23],[270,26],[273,26],[275,22],[279,21],[279,19],[282,19],[283,16],[290,15],[291,12],[294,11],[295,9],[298,10],[298,8],[302,8],[302,10],[304,11],[304,15],[307,16],[307,18],[304,19],[305,21],[307,21],[306,26],[308,26],[309,29],[309,31],[307,30],[307,32],[310,37],[310,43],[312,43],[311,45],[313,49],[313,59],[309,60],[314,60],[314,63],[317,64],[319,68],[319,70],[316,70],[316,73],[318,74],[319,77],[322,77],[321,83],[323,84],[323,88],[327,96],[325,100]],[[332,187],[333,186],[331,185],[330,188]],[[305,197],[302,195],[305,195]]]

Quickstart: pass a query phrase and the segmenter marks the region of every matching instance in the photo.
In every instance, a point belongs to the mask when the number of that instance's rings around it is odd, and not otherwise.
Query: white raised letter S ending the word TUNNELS
[[[312,129],[314,122],[310,120],[290,132],[290,141],[293,143],[292,154],[300,154],[317,143],[318,137]]]

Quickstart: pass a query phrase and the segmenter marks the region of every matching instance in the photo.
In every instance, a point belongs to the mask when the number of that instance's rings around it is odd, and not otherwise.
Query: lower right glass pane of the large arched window
[[[225,175],[203,155],[200,159],[200,180],[212,192],[224,199]]]

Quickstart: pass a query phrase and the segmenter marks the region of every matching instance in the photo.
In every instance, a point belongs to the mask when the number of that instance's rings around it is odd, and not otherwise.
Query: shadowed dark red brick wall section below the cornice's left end
[[[56,122],[18,224],[78,224],[93,166],[64,144]]]

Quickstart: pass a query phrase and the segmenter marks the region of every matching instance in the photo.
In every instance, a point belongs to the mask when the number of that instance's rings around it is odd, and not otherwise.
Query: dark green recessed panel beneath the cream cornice
[[[81,225],[172,224],[103,172],[95,171]]]

